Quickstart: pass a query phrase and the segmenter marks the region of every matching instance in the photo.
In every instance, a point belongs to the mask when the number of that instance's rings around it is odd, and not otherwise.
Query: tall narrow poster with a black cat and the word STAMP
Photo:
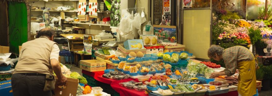
[[[171,0],[163,0],[163,15],[162,22],[160,25],[170,25],[171,16]]]

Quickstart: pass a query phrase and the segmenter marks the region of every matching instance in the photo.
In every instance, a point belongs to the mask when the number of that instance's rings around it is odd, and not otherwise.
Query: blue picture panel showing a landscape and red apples
[[[158,43],[176,43],[176,26],[153,25],[154,34],[158,36]]]

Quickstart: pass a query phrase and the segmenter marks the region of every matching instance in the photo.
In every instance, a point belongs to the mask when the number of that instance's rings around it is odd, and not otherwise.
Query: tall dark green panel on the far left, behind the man
[[[28,41],[28,16],[25,2],[10,2],[8,13],[10,51],[19,54],[19,46]]]

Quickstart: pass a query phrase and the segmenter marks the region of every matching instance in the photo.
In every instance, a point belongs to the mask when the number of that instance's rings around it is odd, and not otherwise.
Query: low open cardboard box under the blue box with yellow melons
[[[124,48],[124,44],[119,44],[118,45],[118,50],[121,51],[121,53],[124,55],[124,56],[127,56],[130,54],[130,52],[138,52],[138,51],[141,51],[143,54],[146,54],[147,53],[147,49],[146,48],[143,48],[143,49],[135,49],[135,50],[126,50]]]

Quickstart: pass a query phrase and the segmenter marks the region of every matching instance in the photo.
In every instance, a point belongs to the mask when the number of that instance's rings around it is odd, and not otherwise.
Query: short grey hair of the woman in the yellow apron
[[[208,50],[208,57],[209,58],[216,58],[217,56],[221,56],[223,54],[224,48],[218,46],[218,45],[211,45]]]

